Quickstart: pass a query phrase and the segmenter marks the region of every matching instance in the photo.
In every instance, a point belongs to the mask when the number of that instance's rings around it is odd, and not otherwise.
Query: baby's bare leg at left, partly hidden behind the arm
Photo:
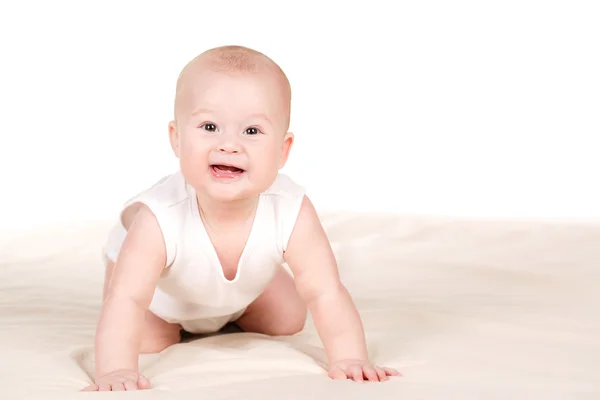
[[[104,290],[102,300],[106,298],[115,263],[108,260],[104,275]],[[146,311],[144,326],[141,330],[140,353],[159,353],[181,340],[181,326],[171,324],[157,317],[151,311]]]

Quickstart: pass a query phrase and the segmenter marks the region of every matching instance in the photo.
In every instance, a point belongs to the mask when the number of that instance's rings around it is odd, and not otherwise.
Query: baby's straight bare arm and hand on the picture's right
[[[333,250],[307,197],[285,259],[325,347],[330,376],[362,381],[363,375],[369,380],[387,380],[387,375],[400,375],[391,368],[370,364],[360,315],[340,281]]]

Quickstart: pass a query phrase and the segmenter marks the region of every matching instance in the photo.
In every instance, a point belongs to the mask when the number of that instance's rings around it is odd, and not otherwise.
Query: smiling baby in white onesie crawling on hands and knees
[[[279,173],[294,141],[290,102],[283,71],[245,47],[208,50],[181,71],[169,123],[180,168],[127,201],[109,235],[96,377],[84,391],[150,388],[139,354],[178,343],[182,330],[234,322],[293,335],[308,309],[331,378],[400,375],[369,361],[317,212]]]

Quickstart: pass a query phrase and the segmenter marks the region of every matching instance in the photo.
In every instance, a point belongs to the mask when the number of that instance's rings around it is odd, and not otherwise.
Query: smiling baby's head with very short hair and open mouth
[[[267,189],[287,161],[291,89],[264,54],[241,46],[208,50],[181,71],[169,137],[197,191],[239,200]]]

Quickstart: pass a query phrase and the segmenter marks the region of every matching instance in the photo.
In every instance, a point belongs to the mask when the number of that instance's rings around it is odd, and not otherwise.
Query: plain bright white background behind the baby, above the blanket
[[[288,74],[283,172],[323,211],[600,219],[597,2],[397,3],[2,2],[0,229],[172,172],[177,74],[224,44]]]

